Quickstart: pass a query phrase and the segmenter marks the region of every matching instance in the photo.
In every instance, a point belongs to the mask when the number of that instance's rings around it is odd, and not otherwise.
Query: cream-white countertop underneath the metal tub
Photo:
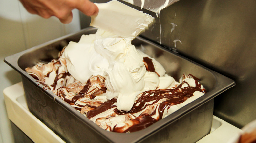
[[[22,83],[19,82],[3,91],[8,118],[18,126],[33,142],[65,143],[44,123],[28,110]],[[197,143],[227,143],[241,130],[224,120],[213,116],[211,133]]]

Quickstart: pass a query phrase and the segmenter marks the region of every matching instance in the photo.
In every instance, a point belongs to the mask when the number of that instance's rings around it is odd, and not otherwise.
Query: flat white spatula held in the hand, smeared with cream
[[[91,16],[90,26],[125,38],[134,38],[154,20],[149,14],[131,8],[117,0],[97,4],[99,13]]]

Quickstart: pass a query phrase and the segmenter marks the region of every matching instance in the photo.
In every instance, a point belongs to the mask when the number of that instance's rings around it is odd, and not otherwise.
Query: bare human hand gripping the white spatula
[[[78,9],[85,15],[97,15],[98,7],[89,0],[20,0],[22,5],[31,14],[43,18],[56,16],[62,23],[72,21],[72,9]]]

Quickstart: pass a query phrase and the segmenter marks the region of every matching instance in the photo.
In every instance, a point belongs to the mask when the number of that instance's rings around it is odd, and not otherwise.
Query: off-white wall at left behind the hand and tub
[[[55,17],[43,19],[29,14],[18,0],[0,0],[0,143],[14,142],[2,91],[21,81],[4,58],[78,30],[78,10],[73,10],[70,24],[62,24]]]

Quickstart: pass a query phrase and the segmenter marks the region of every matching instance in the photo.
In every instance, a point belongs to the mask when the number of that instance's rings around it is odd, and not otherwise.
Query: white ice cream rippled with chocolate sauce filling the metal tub
[[[26,71],[101,128],[143,129],[205,93],[192,75],[179,82],[132,39],[98,29],[70,42],[59,59]]]

